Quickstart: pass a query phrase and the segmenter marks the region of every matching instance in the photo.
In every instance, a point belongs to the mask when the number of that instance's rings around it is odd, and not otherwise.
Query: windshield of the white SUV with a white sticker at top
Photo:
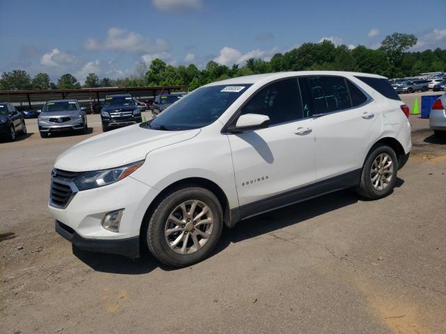
[[[141,127],[171,131],[206,127],[215,122],[249,86],[241,84],[198,88]]]

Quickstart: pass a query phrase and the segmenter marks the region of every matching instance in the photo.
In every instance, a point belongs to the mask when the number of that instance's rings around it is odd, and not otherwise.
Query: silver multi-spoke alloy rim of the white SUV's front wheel
[[[190,255],[205,246],[213,232],[213,212],[200,200],[187,200],[169,214],[164,227],[167,245],[175,253]]]

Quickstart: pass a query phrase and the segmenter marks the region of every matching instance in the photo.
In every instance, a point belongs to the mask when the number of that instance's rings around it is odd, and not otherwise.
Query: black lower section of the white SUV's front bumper
[[[139,257],[139,237],[119,240],[98,240],[81,237],[72,228],[56,220],[56,232],[79,249],[96,253],[123,255],[132,259]]]

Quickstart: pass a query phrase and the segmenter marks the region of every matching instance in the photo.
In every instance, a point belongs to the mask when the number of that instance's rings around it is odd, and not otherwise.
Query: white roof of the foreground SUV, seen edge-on
[[[256,82],[263,81],[264,79],[282,79],[286,77],[293,77],[298,75],[353,75],[360,77],[374,77],[387,79],[378,74],[360,73],[360,72],[341,72],[341,71],[299,71],[299,72],[277,72],[267,74],[255,74],[247,75],[246,77],[237,77],[232,79],[226,79],[222,81],[215,81],[207,86],[217,85],[233,85],[233,84],[256,84]]]

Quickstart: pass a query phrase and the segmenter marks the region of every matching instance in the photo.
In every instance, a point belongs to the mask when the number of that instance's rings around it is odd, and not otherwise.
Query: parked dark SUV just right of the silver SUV
[[[102,131],[140,123],[141,111],[130,94],[107,95],[100,111]]]

